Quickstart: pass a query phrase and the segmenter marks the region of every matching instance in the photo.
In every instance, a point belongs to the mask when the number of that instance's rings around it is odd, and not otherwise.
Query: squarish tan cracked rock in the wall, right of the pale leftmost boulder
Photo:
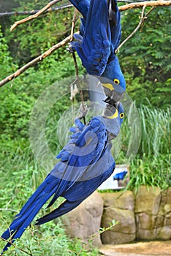
[[[113,219],[120,223],[102,233],[103,244],[125,244],[135,239],[134,195],[132,192],[102,193],[104,212],[101,227],[108,227]]]

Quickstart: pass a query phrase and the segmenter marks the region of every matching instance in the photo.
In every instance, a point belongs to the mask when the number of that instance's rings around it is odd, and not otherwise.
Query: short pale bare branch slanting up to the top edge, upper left
[[[50,1],[50,3],[48,3],[45,7],[43,7],[41,10],[39,10],[39,12],[35,13],[34,15],[31,15],[31,16],[28,16],[27,18],[24,18],[23,20],[18,20],[16,21],[10,31],[12,31],[13,29],[16,28],[16,26],[22,24],[22,23],[25,23],[27,22],[28,20],[33,20],[35,18],[37,18],[39,15],[41,15],[43,12],[45,12],[47,9],[49,9],[51,6],[53,6],[54,4],[58,3],[59,1],[62,1],[62,0],[53,0],[53,1]]]

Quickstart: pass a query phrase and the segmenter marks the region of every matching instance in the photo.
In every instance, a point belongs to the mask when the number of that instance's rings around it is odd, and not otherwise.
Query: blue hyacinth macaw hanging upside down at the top
[[[115,50],[121,39],[117,0],[69,0],[83,15],[80,34],[70,49],[76,50],[88,74],[99,76],[104,93],[118,102],[126,90]]]

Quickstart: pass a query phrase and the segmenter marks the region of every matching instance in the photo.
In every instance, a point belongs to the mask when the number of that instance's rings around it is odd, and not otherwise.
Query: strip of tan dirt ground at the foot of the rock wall
[[[99,252],[105,256],[171,256],[171,240],[134,244],[105,244],[99,249]]]

